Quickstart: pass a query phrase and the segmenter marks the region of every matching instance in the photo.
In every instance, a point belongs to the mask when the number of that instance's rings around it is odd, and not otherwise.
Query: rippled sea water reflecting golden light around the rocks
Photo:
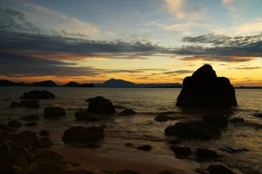
[[[19,101],[19,97],[26,91],[33,89],[51,91],[57,98],[52,100],[39,100],[39,109],[12,108],[12,101]],[[177,96],[181,89],[132,89],[132,88],[62,88],[62,87],[0,87],[0,123],[6,124],[10,118],[16,120],[22,116],[39,114],[40,120],[37,127],[21,127],[18,131],[29,129],[39,132],[43,129],[50,131],[50,138],[54,142],[54,148],[64,146],[61,141],[63,131],[69,127],[83,125],[93,126],[105,124],[105,139],[101,148],[95,150],[97,153],[117,154],[136,153],[137,150],[125,146],[130,142],[139,146],[150,144],[154,147],[148,155],[159,156],[163,163],[170,162],[174,153],[170,151],[168,140],[170,137],[164,135],[165,127],[179,121],[200,120],[205,113],[218,113],[219,111],[192,111],[181,109],[175,105]],[[102,122],[79,122],[75,120],[74,113],[86,109],[85,102],[90,97],[103,96],[112,101],[113,105],[134,109],[135,116],[114,116],[112,120]],[[262,173],[262,118],[255,118],[256,113],[262,113],[262,90],[261,89],[236,89],[236,100],[238,107],[233,113],[227,114],[229,118],[241,117],[247,122],[229,123],[228,129],[222,131],[219,140],[198,141],[188,140],[183,145],[190,146],[193,150],[198,147],[214,149],[223,155],[221,162],[232,168],[239,168],[244,173]],[[45,120],[43,109],[48,106],[58,106],[66,109],[66,117],[58,120]],[[117,111],[122,111],[117,107]],[[178,111],[172,116],[177,120],[168,122],[154,121],[157,113],[163,111]],[[19,120],[22,124],[26,121]],[[221,151],[224,147],[236,149],[246,148],[249,151],[239,153],[226,153]],[[199,166],[208,165],[199,163]]]

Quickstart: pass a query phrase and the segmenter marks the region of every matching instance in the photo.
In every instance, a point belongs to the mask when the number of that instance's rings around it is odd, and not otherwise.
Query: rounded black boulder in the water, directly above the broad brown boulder
[[[112,105],[112,102],[107,98],[103,98],[102,96],[97,96],[95,98],[88,98],[86,100],[89,102],[88,111],[96,114],[112,114],[115,109]]]

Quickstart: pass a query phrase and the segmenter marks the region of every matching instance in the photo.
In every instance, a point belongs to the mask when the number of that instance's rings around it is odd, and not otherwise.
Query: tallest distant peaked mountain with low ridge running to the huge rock
[[[141,83],[136,84],[130,81],[114,79],[106,80],[104,83],[96,83],[94,87],[182,87],[180,83]]]

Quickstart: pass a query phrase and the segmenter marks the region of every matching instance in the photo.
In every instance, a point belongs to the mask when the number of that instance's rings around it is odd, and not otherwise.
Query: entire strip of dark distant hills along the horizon
[[[114,79],[105,80],[104,83],[69,82],[65,85],[57,85],[52,80],[35,83],[14,83],[10,80],[0,80],[0,87],[133,87],[133,88],[182,88],[181,83],[132,83],[127,80]],[[234,87],[236,89],[262,89],[262,87]]]

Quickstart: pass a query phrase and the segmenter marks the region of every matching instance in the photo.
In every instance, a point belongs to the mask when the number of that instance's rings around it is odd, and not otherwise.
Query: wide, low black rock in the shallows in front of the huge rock
[[[214,139],[221,137],[219,127],[208,122],[177,122],[165,128],[165,135],[177,135],[185,138]]]

